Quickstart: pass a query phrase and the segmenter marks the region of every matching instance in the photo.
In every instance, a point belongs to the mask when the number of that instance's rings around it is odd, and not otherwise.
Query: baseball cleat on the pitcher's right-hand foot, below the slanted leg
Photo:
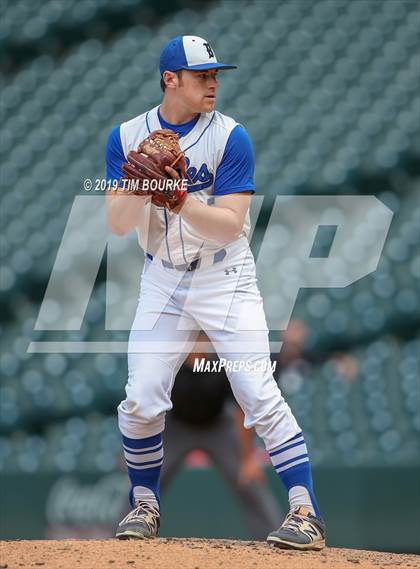
[[[325,547],[325,523],[300,506],[287,514],[279,529],[269,534],[267,541],[282,549],[319,551]]]

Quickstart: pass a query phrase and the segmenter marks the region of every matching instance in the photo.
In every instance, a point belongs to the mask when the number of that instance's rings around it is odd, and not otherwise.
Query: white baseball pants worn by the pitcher
[[[239,364],[226,373],[245,427],[255,427],[266,449],[300,432],[269,365],[268,329],[248,242],[240,238],[225,249],[222,261],[187,272],[164,267],[157,258],[146,260],[129,339],[126,399],[118,406],[126,437],[164,430],[175,376],[200,329],[220,358],[247,362],[248,369]]]

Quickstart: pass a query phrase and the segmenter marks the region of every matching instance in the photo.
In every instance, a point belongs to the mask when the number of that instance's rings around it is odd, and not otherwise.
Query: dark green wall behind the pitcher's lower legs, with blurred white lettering
[[[271,470],[267,476],[286,511],[280,481]],[[317,468],[314,481],[330,546],[420,552],[418,469]],[[0,537],[111,536],[126,491],[122,472],[3,475]],[[229,488],[213,469],[181,470],[163,494],[162,508],[161,536],[249,538]]]

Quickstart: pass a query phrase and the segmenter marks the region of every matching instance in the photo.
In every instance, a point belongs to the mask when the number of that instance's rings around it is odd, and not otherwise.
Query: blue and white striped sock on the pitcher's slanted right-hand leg
[[[286,486],[290,509],[305,506],[321,517],[316,502],[308,449],[302,432],[269,452],[271,462]]]

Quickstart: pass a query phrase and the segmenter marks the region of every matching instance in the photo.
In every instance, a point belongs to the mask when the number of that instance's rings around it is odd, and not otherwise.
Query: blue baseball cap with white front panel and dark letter
[[[177,36],[171,39],[160,54],[160,74],[164,71],[191,69],[236,69],[236,65],[226,65],[216,59],[209,42],[198,36]]]

